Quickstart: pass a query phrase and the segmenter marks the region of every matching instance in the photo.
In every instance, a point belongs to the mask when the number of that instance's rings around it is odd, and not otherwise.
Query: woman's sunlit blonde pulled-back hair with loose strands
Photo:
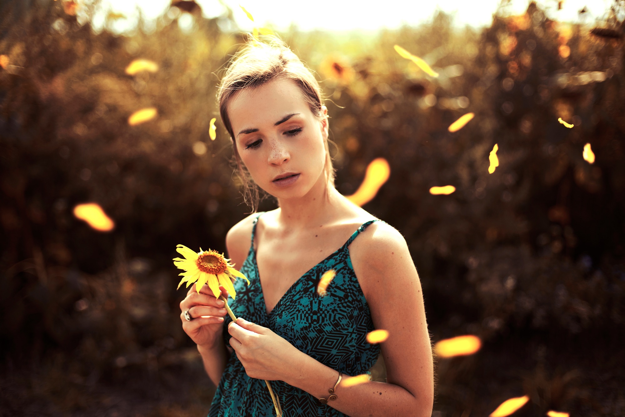
[[[302,91],[302,96],[308,103],[312,114],[317,118],[324,116],[321,109],[321,87],[314,75],[312,75],[312,71],[297,58],[296,54],[292,53],[284,41],[275,36],[261,35],[260,41],[254,38],[249,39],[234,54],[217,91],[219,114],[232,140],[234,160],[243,185],[243,199],[251,207],[252,212],[257,209],[259,203],[259,188],[241,161],[241,156],[234,141],[232,125],[228,118],[227,105],[237,91],[246,88],[256,88],[277,78],[294,81]],[[326,148],[324,173],[327,182],[334,185],[334,169],[332,168],[332,158],[330,157],[327,138],[324,142]]]

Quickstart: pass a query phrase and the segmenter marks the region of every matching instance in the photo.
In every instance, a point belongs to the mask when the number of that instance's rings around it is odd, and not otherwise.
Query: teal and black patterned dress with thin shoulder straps
[[[241,272],[242,279],[234,283],[236,300],[228,299],[234,316],[267,327],[293,346],[317,361],[343,374],[354,376],[369,373],[380,351],[378,344],[369,344],[366,334],[374,330],[369,305],[354,274],[347,247],[357,235],[375,220],[361,225],[336,252],[302,275],[267,314],[254,250],[254,233],[259,213],[252,227],[252,244]],[[317,295],[321,275],[334,269],[336,276],[327,286],[327,295]],[[230,346],[224,319],[224,342]],[[280,399],[284,417],[327,416],[346,414],[326,404],[302,389],[284,381],[271,381]],[[328,386],[328,388],[331,388]],[[212,399],[209,417],[269,417],[276,411],[262,379],[249,378],[241,361],[232,353]]]

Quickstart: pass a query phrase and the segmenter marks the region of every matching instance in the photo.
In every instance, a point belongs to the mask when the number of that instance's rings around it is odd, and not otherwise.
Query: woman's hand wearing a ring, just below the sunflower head
[[[228,292],[219,286],[221,295],[225,299]],[[214,348],[221,338],[224,324],[224,316],[227,312],[224,309],[224,302],[215,298],[211,289],[205,284],[197,293],[195,284],[187,292],[186,298],[180,302],[180,319],[183,321],[183,330],[198,346]],[[184,312],[188,311],[191,321],[184,318]]]

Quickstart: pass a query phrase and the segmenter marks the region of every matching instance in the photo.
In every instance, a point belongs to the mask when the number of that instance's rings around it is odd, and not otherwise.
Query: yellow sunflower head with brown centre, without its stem
[[[193,252],[185,245],[176,245],[176,250],[185,258],[174,258],[174,265],[180,269],[184,269],[184,272],[178,274],[183,275],[183,279],[178,284],[178,288],[180,288],[183,282],[187,283],[187,287],[195,282],[196,291],[199,292],[204,284],[208,283],[212,294],[218,298],[221,294],[221,291],[219,291],[219,285],[221,285],[228,291],[232,299],[234,299],[236,291],[234,291],[231,279],[237,279],[237,277],[239,277],[246,280],[247,285],[249,285],[249,279],[241,274],[241,272],[234,269],[234,264],[230,264],[230,259],[226,259],[224,254],[220,255],[215,250],[202,250],[202,248],[200,248],[199,252],[196,254],[196,252]]]

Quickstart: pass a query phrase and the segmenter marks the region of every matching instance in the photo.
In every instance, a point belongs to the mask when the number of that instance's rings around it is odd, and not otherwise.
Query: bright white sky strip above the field
[[[222,0],[232,8],[234,18],[244,31],[251,31],[253,26],[265,26],[271,23],[281,30],[291,23],[302,31],[322,29],[328,31],[346,31],[353,29],[376,30],[381,28],[399,28],[402,24],[416,26],[432,17],[436,9],[454,14],[456,26],[485,26],[492,20],[499,0],[432,0],[405,1],[384,0],[356,2],[354,0],[332,1],[293,1],[293,0]],[[102,0],[103,7],[111,8],[115,13],[124,14],[127,19],[118,19],[115,29],[123,32],[136,24],[137,8],[141,8],[146,19],[155,19],[168,9],[171,0]],[[212,18],[224,13],[225,9],[219,0],[196,0],[202,7],[202,14]],[[519,14],[527,9],[528,0],[511,0],[506,6],[506,13]],[[600,18],[612,0],[564,0],[562,9],[557,10],[556,0],[538,0],[547,9],[549,17],[559,21],[578,21],[577,11],[584,6],[588,9],[586,23]],[[252,23],[239,7],[241,4],[254,16]],[[356,6],[354,6],[356,5]],[[94,28],[102,26],[104,13],[94,19]]]

